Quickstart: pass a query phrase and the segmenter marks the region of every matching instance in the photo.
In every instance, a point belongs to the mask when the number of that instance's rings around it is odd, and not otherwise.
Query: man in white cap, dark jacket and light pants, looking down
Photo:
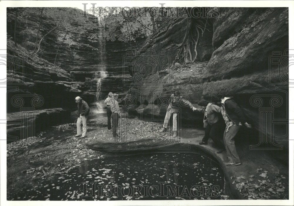
[[[84,138],[87,136],[87,119],[90,112],[90,108],[81,97],[76,97],[78,103],[78,120],[76,122],[77,134],[76,137]],[[82,131],[83,124],[83,131]]]

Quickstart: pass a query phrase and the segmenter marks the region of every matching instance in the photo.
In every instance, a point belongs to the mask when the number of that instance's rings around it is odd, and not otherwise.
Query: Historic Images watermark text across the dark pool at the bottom
[[[82,182],[83,195],[81,197],[218,197],[219,185],[169,185],[159,182],[158,185],[99,185],[97,182]]]

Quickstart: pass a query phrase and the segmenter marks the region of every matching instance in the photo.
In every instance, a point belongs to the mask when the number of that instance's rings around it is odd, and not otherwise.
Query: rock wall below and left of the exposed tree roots
[[[195,106],[202,99],[203,79],[208,60],[213,53],[212,25],[199,38],[197,46],[197,63],[192,65],[172,65],[177,55],[177,45],[185,36],[188,19],[176,20],[171,26],[150,43],[144,46],[138,55],[149,65],[139,63],[130,66],[129,70],[134,80],[131,84],[130,95],[126,98],[136,99],[136,104],[129,107],[131,114],[139,114],[143,119],[162,120],[166,114],[167,99],[174,90],[181,91],[181,95]],[[166,62],[163,63],[163,60]],[[158,64],[158,65],[157,65]],[[128,106],[128,105],[127,105]],[[202,115],[191,115],[190,108],[182,108],[181,120],[186,125],[201,124]]]

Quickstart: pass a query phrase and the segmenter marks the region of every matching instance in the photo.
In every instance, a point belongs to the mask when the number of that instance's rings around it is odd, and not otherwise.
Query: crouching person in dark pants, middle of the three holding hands
[[[204,114],[203,124],[205,134],[199,144],[207,144],[208,139],[211,138],[216,146],[220,148],[217,153],[225,151],[225,146],[220,141],[224,130],[220,107],[214,103],[208,103],[205,109],[198,109],[194,107],[193,111],[202,112]]]

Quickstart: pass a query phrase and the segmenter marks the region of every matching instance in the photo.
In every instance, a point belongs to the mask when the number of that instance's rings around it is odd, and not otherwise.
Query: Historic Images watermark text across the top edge
[[[137,18],[150,15],[152,18],[217,18],[218,7],[165,7],[160,3],[158,7],[98,7],[96,3],[83,3],[83,17],[89,17],[87,11],[96,17]]]

